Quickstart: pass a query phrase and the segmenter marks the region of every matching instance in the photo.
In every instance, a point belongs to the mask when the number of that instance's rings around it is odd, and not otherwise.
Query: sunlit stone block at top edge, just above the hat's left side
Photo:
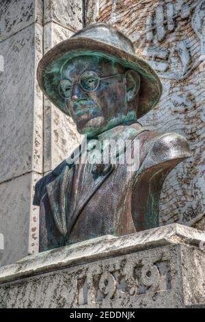
[[[44,0],[44,23],[54,21],[74,32],[82,27],[82,1]]]

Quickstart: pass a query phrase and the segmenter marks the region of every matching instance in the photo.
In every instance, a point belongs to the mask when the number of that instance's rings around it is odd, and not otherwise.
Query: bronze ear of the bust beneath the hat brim
[[[125,73],[126,77],[126,101],[135,99],[140,88],[140,76],[136,71],[130,70]]]

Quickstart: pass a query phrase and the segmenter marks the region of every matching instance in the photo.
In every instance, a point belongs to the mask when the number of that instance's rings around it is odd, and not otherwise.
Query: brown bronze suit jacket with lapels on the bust
[[[167,173],[191,156],[187,140],[174,133],[149,132],[138,124],[118,127],[117,134],[132,145],[139,140],[137,171],[128,171],[128,164],[70,165],[65,160],[36,184],[33,204],[40,205],[40,251],[159,225],[161,186]]]

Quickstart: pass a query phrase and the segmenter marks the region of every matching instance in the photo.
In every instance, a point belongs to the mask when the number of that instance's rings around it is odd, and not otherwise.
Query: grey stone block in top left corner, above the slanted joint
[[[0,42],[43,19],[42,0],[2,0],[0,8]]]

